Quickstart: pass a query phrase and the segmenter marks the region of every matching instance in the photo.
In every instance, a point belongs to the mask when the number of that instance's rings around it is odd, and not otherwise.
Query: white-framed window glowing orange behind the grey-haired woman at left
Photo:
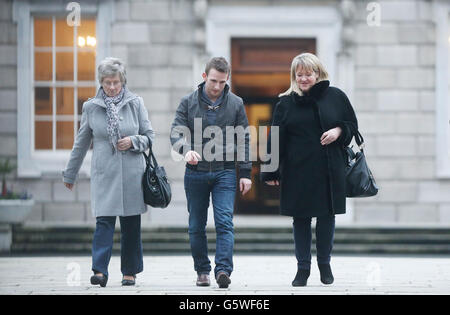
[[[113,0],[78,0],[80,25],[60,0],[13,1],[17,24],[17,175],[61,176],[96,64],[109,56]],[[91,152],[80,169],[89,176]]]

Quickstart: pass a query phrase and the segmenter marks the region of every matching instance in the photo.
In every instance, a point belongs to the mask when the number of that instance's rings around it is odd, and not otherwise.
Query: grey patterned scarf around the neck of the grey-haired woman
[[[112,145],[112,153],[117,152],[117,141],[121,139],[120,131],[119,131],[119,112],[117,110],[117,104],[119,104],[123,95],[125,94],[125,87],[122,87],[119,94],[116,96],[108,96],[102,88],[102,97],[106,104],[106,122],[107,122],[107,131],[109,135],[109,141]]]

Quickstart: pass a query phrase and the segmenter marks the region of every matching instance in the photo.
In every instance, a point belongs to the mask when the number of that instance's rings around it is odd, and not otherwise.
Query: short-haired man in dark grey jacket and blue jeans
[[[210,285],[206,240],[210,196],[217,234],[214,274],[219,287],[227,288],[233,270],[236,164],[242,195],[252,184],[247,115],[242,99],[230,92],[229,75],[230,66],[224,58],[207,63],[204,82],[182,98],[170,136],[173,149],[186,161],[184,188],[198,286]]]

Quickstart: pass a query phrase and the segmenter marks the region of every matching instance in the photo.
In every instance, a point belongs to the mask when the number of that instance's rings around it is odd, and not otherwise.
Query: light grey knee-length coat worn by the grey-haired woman
[[[132,148],[112,152],[106,130],[106,104],[99,90],[94,98],[83,104],[80,130],[63,171],[63,181],[75,183],[86,152],[93,142],[91,208],[94,217],[131,216],[147,211],[142,191],[145,170],[142,152],[149,148],[146,135],[153,142],[154,132],[142,98],[124,88],[124,97],[117,105],[119,130],[122,137],[131,138]]]

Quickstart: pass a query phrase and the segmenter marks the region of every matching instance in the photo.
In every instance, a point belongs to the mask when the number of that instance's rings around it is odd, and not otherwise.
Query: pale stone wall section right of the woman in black
[[[355,219],[445,224],[450,182],[435,171],[432,2],[378,2],[381,25],[370,27],[368,1],[356,1],[353,102],[381,190],[375,198],[357,199]]]

